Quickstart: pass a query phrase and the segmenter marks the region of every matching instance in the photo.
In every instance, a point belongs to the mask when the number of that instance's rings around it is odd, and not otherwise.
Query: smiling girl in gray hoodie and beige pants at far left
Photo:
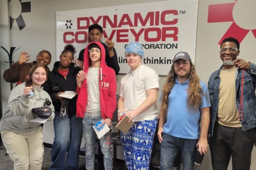
[[[32,113],[33,108],[43,107],[46,100],[51,102],[49,94],[41,87],[46,79],[44,65],[34,65],[29,71],[29,79],[11,91],[8,108],[0,121],[2,141],[14,162],[15,170],[41,170],[44,155],[42,126],[41,123],[30,121],[38,118]],[[35,85],[41,88],[33,90],[35,99],[32,102],[28,94],[31,94],[32,86]],[[52,115],[48,121],[54,118],[54,107],[49,102],[47,104]]]

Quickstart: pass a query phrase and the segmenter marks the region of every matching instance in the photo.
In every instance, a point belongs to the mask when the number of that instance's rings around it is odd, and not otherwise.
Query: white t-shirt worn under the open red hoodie
[[[100,111],[99,100],[99,68],[88,68],[87,73],[87,105],[86,112]]]

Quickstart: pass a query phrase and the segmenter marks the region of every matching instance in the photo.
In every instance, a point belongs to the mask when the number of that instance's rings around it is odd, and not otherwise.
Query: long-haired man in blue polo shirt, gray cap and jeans
[[[171,170],[180,149],[183,170],[193,170],[196,149],[200,154],[208,150],[209,93],[188,53],[178,52],[172,62],[161,96],[160,168]]]

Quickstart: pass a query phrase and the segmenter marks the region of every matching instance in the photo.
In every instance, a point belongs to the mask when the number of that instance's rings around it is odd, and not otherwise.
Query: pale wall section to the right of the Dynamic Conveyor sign
[[[217,70],[221,66],[221,59],[219,55],[218,45],[219,40],[230,27],[232,22],[223,23],[207,23],[208,17],[208,6],[211,4],[222,4],[222,3],[234,3],[234,0],[200,0],[199,11],[198,11],[198,31],[197,31],[197,44],[196,44],[196,58],[195,65],[197,73],[204,82],[208,82],[210,74]],[[241,4],[242,8],[247,8],[247,4]],[[254,10],[254,9],[252,9]],[[233,11],[239,13],[239,17],[246,20],[247,17],[240,11]],[[240,18],[238,18],[240,19]],[[248,23],[251,22],[248,20]],[[256,28],[256,25],[254,29]],[[252,55],[253,48],[256,47],[256,38],[250,31],[244,40],[240,43],[240,54],[239,58],[246,61],[256,63],[256,58]],[[256,156],[256,148],[253,147],[251,170],[256,169],[256,162],[253,161]],[[196,170],[210,170],[210,153],[207,153],[201,166],[195,166]],[[232,170],[231,164],[228,170]]]

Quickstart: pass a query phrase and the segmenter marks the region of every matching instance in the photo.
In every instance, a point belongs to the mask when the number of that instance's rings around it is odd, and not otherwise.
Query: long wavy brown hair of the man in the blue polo
[[[177,75],[174,71],[174,64],[172,64],[171,70],[169,71],[166,82],[163,85],[163,95],[162,95],[162,104],[161,104],[161,112],[167,112],[168,105],[168,96],[172,91],[173,86],[175,85],[175,79]],[[203,90],[200,85],[200,79],[195,72],[195,66],[190,62],[190,73],[189,73],[189,89],[188,89],[188,97],[187,97],[187,106],[188,109],[199,108],[199,105],[202,102],[201,96],[203,95]]]

